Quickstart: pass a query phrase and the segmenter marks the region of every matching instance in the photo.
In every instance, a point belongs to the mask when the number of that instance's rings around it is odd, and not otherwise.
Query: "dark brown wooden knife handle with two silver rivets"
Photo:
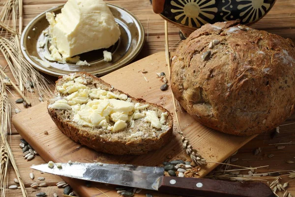
[[[202,178],[163,176],[159,192],[190,197],[275,197],[264,183],[234,183]]]

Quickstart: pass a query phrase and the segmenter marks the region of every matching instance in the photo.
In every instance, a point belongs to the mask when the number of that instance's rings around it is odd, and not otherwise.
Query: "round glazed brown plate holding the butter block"
[[[80,60],[86,60],[91,66],[78,66],[75,64],[61,64],[48,61],[44,55],[49,54],[49,36],[42,32],[49,29],[49,23],[46,20],[46,12],[60,13],[63,5],[47,10],[35,17],[24,30],[21,37],[22,52],[25,58],[38,70],[53,76],[67,75],[72,72],[89,72],[101,76],[112,72],[122,66],[130,63],[141,51],[144,45],[144,28],[140,21],[129,11],[107,3],[113,13],[116,22],[119,24],[121,35],[118,42],[108,49],[99,49],[80,54]],[[45,42],[45,46],[38,48],[38,42]],[[112,52],[112,62],[103,60],[103,51]],[[42,66],[33,57],[49,63],[50,67]]]

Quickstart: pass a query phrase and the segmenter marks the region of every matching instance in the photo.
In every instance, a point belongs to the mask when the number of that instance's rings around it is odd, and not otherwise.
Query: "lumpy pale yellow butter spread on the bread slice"
[[[132,102],[125,94],[115,94],[101,88],[90,88],[86,79],[75,78],[75,75],[63,76],[66,80],[57,86],[58,96],[48,108],[71,110],[74,114],[71,121],[81,126],[99,127],[108,131],[117,132],[134,128],[135,120],[142,119],[150,123],[154,130],[167,131],[165,124],[167,112],[162,112],[160,117],[149,104]]]

